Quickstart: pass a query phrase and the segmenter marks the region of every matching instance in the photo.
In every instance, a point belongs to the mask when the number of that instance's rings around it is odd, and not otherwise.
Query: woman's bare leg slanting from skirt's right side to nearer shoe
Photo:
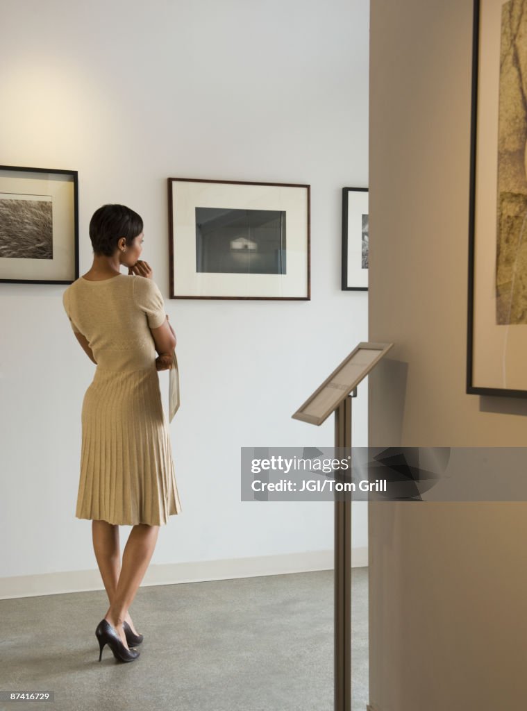
[[[158,534],[159,526],[138,523],[130,531],[127,545],[124,547],[117,588],[110,602],[110,608],[105,614],[105,619],[115,627],[124,644],[126,644],[126,637],[122,623],[127,619],[129,606],[147,572]]]

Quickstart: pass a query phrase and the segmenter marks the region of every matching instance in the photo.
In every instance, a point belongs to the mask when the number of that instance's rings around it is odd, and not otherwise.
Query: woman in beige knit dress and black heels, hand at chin
[[[116,659],[128,662],[139,656],[134,646],[143,639],[129,606],[159,526],[181,511],[157,375],[171,367],[176,336],[152,270],[139,260],[142,218],[124,205],[103,205],[90,221],[90,239],[92,267],[63,294],[75,336],[97,365],[82,402],[75,515],[92,520],[93,549],[110,601],[95,631],[99,661],[107,644]],[[122,565],[119,525],[133,526]]]

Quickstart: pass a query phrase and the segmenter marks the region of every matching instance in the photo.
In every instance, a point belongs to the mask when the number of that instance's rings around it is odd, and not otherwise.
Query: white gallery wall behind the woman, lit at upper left
[[[176,330],[183,510],[152,563],[203,562],[203,577],[228,577],[233,561],[240,574],[331,567],[333,504],[240,501],[240,447],[331,446],[332,418],[291,415],[368,336],[367,292],[340,287],[341,188],[368,185],[368,0],[3,0],[0,13],[0,164],[79,171],[81,274],[94,210],[137,210]],[[311,301],[169,300],[169,176],[309,183]],[[96,567],[91,524],[75,518],[95,365],[65,288],[0,284],[4,584]],[[353,444],[367,444],[366,417],[361,385]],[[359,552],[366,515],[353,506]]]

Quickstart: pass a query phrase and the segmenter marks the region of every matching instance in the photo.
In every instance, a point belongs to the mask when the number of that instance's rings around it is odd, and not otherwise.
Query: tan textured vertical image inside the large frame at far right
[[[501,9],[496,323],[527,324],[527,0]]]

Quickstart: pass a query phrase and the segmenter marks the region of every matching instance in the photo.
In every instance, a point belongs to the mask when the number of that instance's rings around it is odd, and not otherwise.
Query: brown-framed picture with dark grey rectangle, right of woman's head
[[[309,299],[309,185],[169,178],[171,299]]]

